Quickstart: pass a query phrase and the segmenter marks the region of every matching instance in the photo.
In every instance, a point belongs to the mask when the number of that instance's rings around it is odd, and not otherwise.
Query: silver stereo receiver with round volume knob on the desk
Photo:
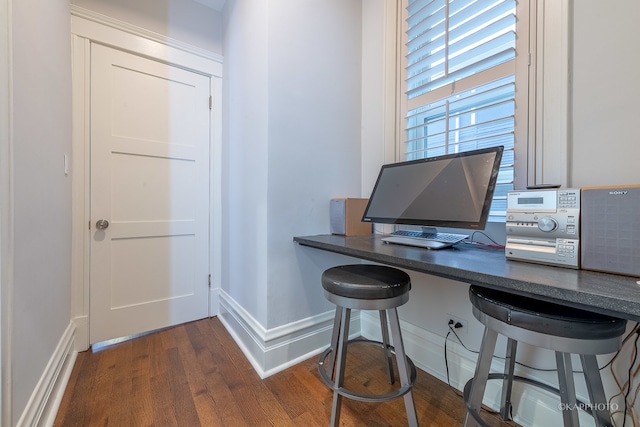
[[[580,268],[580,189],[507,193],[508,259]]]

